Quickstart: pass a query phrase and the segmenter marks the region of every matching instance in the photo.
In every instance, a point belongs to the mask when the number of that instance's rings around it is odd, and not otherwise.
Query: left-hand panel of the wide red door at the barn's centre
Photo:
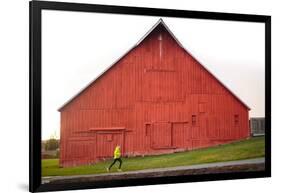
[[[170,123],[153,124],[151,145],[152,148],[161,149],[172,146],[172,132]]]

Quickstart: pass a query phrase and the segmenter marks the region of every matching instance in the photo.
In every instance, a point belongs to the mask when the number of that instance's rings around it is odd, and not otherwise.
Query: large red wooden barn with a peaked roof
[[[249,107],[200,64],[160,19],[65,103],[60,165],[172,153],[249,137]]]

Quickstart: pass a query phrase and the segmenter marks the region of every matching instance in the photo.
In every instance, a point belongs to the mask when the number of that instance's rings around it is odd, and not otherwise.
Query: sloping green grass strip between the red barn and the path
[[[123,171],[142,170],[149,168],[163,168],[174,166],[187,166],[201,163],[241,160],[264,156],[264,137],[255,137],[248,140],[220,145],[211,148],[199,149],[189,152],[165,154],[158,156],[123,158]],[[65,176],[79,174],[100,174],[106,172],[106,167],[112,160],[100,162],[95,165],[59,168],[58,159],[42,160],[42,176]],[[111,169],[116,172],[117,162]]]

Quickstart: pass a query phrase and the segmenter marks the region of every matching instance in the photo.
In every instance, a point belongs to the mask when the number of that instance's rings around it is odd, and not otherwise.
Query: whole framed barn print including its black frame
[[[271,176],[271,17],[30,1],[30,191]]]

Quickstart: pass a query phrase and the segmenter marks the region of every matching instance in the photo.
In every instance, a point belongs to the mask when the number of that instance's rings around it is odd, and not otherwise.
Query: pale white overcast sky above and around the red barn
[[[57,109],[135,45],[159,18],[43,11],[43,139],[59,137]],[[183,46],[251,108],[250,116],[264,116],[263,23],[162,19]]]

